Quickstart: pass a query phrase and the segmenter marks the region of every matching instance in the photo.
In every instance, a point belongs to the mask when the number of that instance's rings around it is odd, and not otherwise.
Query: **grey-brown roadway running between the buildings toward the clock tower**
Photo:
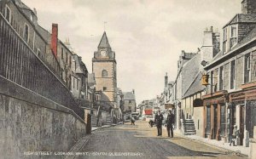
[[[247,156],[226,155],[225,150],[203,145],[192,139],[175,136],[157,137],[156,128],[149,128],[148,122],[125,123],[111,128],[96,130],[79,151],[86,156],[79,158],[247,158]],[[130,152],[128,154],[127,152]]]

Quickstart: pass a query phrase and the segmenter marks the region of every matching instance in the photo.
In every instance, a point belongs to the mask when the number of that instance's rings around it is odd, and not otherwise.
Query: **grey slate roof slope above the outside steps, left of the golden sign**
[[[189,86],[188,90],[183,95],[183,98],[188,97],[192,94],[201,92],[204,90],[204,86],[201,85],[201,72],[198,72],[197,76],[195,77],[194,81]]]

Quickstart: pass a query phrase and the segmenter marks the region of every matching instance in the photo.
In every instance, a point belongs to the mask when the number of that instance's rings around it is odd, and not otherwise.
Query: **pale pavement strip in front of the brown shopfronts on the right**
[[[246,156],[249,156],[249,153],[250,153],[250,148],[242,146],[242,145],[230,146],[230,143],[224,143],[221,140],[207,139],[207,138],[203,138],[203,137],[197,136],[197,135],[183,135],[178,131],[174,131],[174,134],[177,136],[186,138],[186,139],[192,139],[197,142],[201,142],[201,143],[204,143],[207,145],[212,145],[212,146],[218,147],[219,149],[222,149],[222,150],[230,151],[230,153],[241,153]]]

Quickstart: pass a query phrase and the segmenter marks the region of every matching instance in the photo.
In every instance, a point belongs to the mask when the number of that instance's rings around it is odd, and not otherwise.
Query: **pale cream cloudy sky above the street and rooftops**
[[[59,26],[89,72],[105,31],[117,61],[117,82],[123,92],[135,89],[137,104],[175,81],[182,50],[201,48],[203,31],[220,31],[236,14],[241,0],[21,0],[37,9],[38,23],[50,31]]]

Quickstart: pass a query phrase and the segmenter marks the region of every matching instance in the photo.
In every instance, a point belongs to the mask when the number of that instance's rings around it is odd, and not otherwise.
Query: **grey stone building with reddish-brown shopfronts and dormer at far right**
[[[205,67],[209,85],[203,96],[204,133],[227,142],[237,125],[237,144],[248,146],[256,125],[256,6],[253,0],[241,6],[242,14],[223,28],[223,54]]]

